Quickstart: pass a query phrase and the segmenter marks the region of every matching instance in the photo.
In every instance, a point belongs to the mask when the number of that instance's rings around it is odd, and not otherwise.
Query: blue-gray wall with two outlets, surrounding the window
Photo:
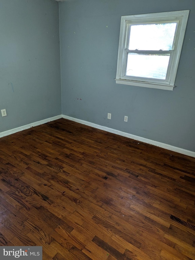
[[[120,17],[186,9],[177,87],[116,84]],[[72,0],[60,2],[59,13],[62,113],[195,151],[195,1]]]

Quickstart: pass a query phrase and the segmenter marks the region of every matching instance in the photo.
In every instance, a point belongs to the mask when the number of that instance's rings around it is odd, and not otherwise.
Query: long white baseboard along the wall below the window
[[[112,134],[118,134],[118,135],[121,135],[121,136],[124,136],[124,137],[134,139],[136,141],[140,141],[140,142],[147,143],[147,144],[152,144],[152,145],[155,145],[155,146],[158,146],[158,147],[170,150],[170,151],[174,151],[174,152],[177,152],[177,153],[181,153],[181,154],[184,154],[184,155],[195,157],[195,152],[193,152],[193,151],[188,151],[188,150],[178,148],[178,147],[175,147],[175,146],[172,146],[172,145],[169,145],[169,144],[160,143],[160,142],[153,141],[153,140],[150,140],[150,139],[147,139],[147,138],[144,138],[144,137],[140,137],[140,136],[137,136],[137,135],[128,134],[128,133],[125,133],[125,132],[122,132],[122,131],[119,131],[119,130],[115,130],[115,129],[112,129],[112,128],[109,128],[109,127],[106,127],[106,126],[100,126],[100,125],[90,123],[90,122],[87,122],[87,121],[84,121],[84,120],[81,120],[81,119],[77,119],[77,118],[74,118],[74,117],[62,115],[62,118],[68,119],[68,120],[71,120],[71,121],[74,121],[74,122],[77,122],[77,123],[80,123],[80,124],[83,124],[83,125],[86,125],[86,126],[91,126],[91,127],[94,127],[94,128],[100,129],[100,130],[104,130],[104,131],[112,133]]]

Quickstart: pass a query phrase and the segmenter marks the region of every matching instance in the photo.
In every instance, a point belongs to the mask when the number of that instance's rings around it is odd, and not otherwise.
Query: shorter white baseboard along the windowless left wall
[[[17,132],[29,129],[30,127],[39,126],[39,125],[42,125],[42,124],[45,124],[45,123],[48,123],[48,122],[51,122],[51,121],[54,121],[54,120],[60,119],[60,118],[62,118],[62,115],[53,116],[53,117],[50,117],[50,118],[47,118],[47,119],[43,119],[43,120],[40,120],[40,121],[31,123],[31,124],[28,124],[28,125],[25,125],[25,126],[20,126],[20,127],[17,127],[17,128],[13,128],[11,130],[7,130],[7,131],[4,131],[4,132],[1,132],[0,133],[0,137],[4,137],[4,136],[10,135],[10,134],[14,134],[14,133],[17,133]]]

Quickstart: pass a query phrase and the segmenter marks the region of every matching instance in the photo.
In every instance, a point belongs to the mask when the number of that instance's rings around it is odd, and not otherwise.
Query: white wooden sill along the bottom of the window
[[[157,83],[149,83],[143,81],[133,81],[133,80],[122,80],[122,79],[115,79],[117,84],[125,84],[137,87],[150,87],[150,88],[158,88],[164,90],[173,90],[175,85],[168,85],[168,84],[157,84]]]

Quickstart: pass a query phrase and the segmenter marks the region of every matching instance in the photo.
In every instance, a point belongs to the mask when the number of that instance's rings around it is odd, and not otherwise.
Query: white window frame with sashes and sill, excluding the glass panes
[[[175,87],[175,80],[177,69],[179,65],[179,58],[182,50],[183,39],[186,31],[186,25],[188,20],[190,10],[173,11],[173,12],[160,12],[160,13],[149,13],[149,14],[139,14],[139,15],[128,15],[121,16],[121,26],[120,26],[120,36],[119,36],[119,51],[118,51],[118,61],[117,61],[117,71],[116,71],[116,83],[126,84],[139,87],[150,87],[165,90],[173,90]],[[130,25],[135,24],[147,24],[147,23],[168,23],[177,22],[176,33],[173,41],[173,48],[169,52],[170,59],[166,74],[166,79],[152,79],[144,77],[133,77],[126,76],[126,62],[129,46],[129,34]],[[138,50],[134,50],[138,53]],[[148,52],[148,51],[144,51]],[[149,51],[152,53],[152,51]],[[162,50],[153,51],[155,53],[163,53]]]

